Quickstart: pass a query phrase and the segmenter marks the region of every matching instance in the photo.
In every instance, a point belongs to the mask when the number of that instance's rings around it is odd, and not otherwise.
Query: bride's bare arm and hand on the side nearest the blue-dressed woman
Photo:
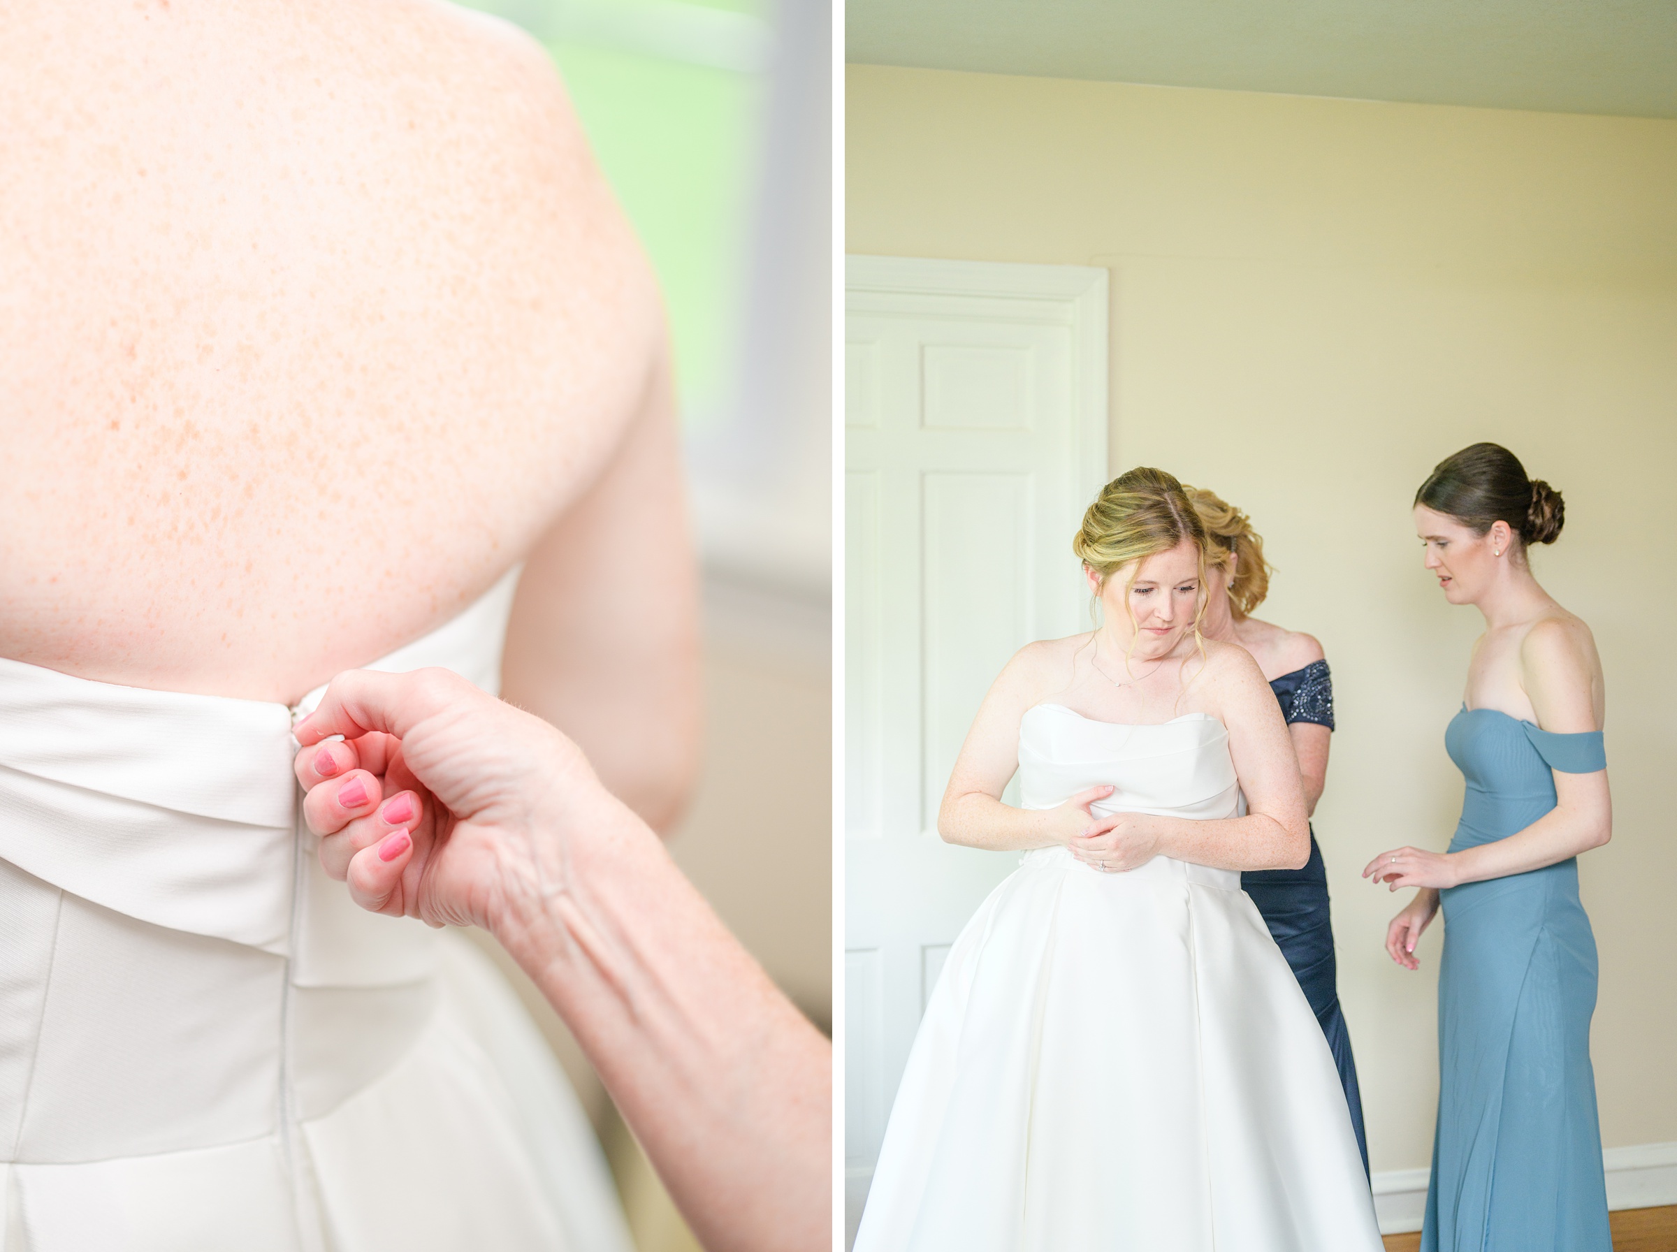
[[[1229,731],[1234,776],[1246,816],[1191,821],[1144,813],[1102,818],[1090,836],[1070,843],[1080,860],[1100,858],[1132,870],[1171,856],[1218,870],[1296,870],[1310,860],[1310,818],[1298,758],[1275,692],[1244,649],[1216,645],[1206,674],[1206,702]]]

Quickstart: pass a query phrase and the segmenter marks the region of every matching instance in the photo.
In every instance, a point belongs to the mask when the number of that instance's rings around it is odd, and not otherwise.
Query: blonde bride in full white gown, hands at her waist
[[[1134,469],[1075,546],[1103,625],[1008,664],[944,796],[944,838],[1025,856],[949,950],[855,1252],[1377,1252],[1333,1058],[1241,892],[1310,843],[1275,696],[1197,635],[1199,518]]]

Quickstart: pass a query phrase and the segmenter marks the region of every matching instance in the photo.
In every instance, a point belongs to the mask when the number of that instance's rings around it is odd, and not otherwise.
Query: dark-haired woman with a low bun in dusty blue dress
[[[1415,530],[1444,598],[1486,630],[1444,746],[1467,779],[1449,851],[1392,848],[1363,870],[1417,887],[1387,932],[1444,910],[1439,1116],[1422,1252],[1612,1252],[1590,1068],[1597,955],[1578,853],[1607,843],[1605,694],[1595,640],[1531,575],[1561,496],[1498,444],[1439,463]]]

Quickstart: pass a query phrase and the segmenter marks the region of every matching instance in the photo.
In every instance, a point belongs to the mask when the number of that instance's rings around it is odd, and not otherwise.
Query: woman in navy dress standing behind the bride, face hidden
[[[1269,567],[1263,558],[1263,536],[1251,520],[1204,488],[1187,488],[1194,511],[1206,525],[1206,617],[1201,634],[1239,644],[1253,654],[1269,689],[1281,702],[1281,716],[1298,753],[1305,781],[1305,806],[1315,813],[1328,778],[1328,736],[1333,732],[1333,677],[1321,655],[1321,644],[1310,635],[1259,622],[1251,612],[1269,592]],[[1310,831],[1310,860],[1301,870],[1248,870],[1241,887],[1263,913],[1269,935],[1293,967],[1293,975],[1310,1001],[1321,1032],[1333,1051],[1333,1063],[1345,1088],[1352,1128],[1368,1172],[1368,1141],[1363,1136],[1362,1094],[1357,1089],[1357,1061],[1352,1037],[1340,1011],[1338,975],[1333,960],[1333,922],[1328,915],[1328,872]]]

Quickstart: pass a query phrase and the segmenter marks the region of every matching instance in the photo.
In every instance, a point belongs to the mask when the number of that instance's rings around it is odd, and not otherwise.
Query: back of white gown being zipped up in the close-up
[[[515,582],[376,667],[498,691]],[[3,1252],[631,1247],[493,965],[322,872],[315,701],[0,660]]]

